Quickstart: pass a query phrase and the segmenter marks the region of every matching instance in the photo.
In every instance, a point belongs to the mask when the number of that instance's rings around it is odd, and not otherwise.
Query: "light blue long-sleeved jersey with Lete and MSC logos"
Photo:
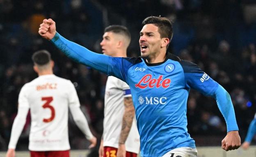
[[[58,33],[51,41],[73,60],[113,75],[130,86],[142,157],[161,157],[174,148],[196,147],[187,133],[190,88],[215,98],[227,130],[238,130],[229,93],[192,62],[171,54],[156,64],[149,64],[141,57],[110,57],[91,52]]]

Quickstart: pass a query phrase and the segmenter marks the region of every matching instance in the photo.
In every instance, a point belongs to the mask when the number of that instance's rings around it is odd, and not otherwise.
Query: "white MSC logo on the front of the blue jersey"
[[[142,97],[141,95],[138,98],[139,104],[148,104],[148,105],[158,105],[158,104],[166,104],[167,97]]]

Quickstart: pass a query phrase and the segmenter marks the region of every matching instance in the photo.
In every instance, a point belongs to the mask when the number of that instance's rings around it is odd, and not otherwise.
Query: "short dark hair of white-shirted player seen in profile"
[[[117,34],[122,34],[122,35],[125,35],[128,38],[128,40],[131,39],[130,32],[128,31],[128,29],[125,26],[110,25],[105,28],[104,33],[106,33],[106,32],[114,32]]]

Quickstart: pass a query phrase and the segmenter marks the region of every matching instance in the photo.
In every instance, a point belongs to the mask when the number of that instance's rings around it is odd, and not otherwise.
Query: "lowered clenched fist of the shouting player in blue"
[[[238,131],[230,131],[222,140],[222,149],[229,151],[238,149],[241,145],[241,139]]]

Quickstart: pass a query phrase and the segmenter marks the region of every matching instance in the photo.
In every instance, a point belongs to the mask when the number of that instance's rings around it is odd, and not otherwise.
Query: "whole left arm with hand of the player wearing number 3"
[[[26,92],[24,90],[25,89],[23,86],[18,98],[18,103],[19,103],[18,114],[16,115],[14,119],[14,123],[11,128],[11,138],[10,138],[6,157],[15,157],[16,144],[18,142],[18,138],[20,137],[23,127],[25,125],[27,113],[29,111],[29,104],[25,96]]]

